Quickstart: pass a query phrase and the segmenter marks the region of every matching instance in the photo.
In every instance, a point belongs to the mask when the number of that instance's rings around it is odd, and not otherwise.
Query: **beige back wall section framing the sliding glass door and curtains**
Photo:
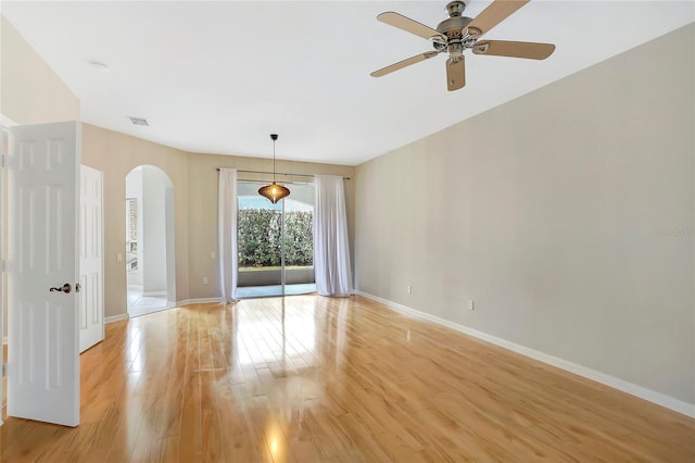
[[[213,154],[190,154],[189,167],[189,271],[190,298],[205,299],[217,297],[217,172],[216,167],[236,167],[244,171],[273,171],[273,161],[257,158],[239,158]],[[348,226],[351,238],[351,252],[354,249],[354,211],[355,211],[355,168],[350,166],[314,164],[278,160],[277,172],[292,174],[326,174],[352,177],[345,180],[345,207],[348,209]],[[240,179],[269,180],[269,176],[258,174],[239,174]],[[303,177],[280,177],[278,180],[306,182]],[[290,190],[292,186],[289,185]],[[290,196],[291,197],[291,196]],[[354,253],[353,253],[354,254]],[[354,262],[354,259],[353,259]],[[203,285],[203,277],[208,284]]]

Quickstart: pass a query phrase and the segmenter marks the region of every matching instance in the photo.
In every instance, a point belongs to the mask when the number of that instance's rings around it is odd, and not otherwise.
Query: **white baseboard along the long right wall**
[[[435,315],[431,315],[429,313],[420,312],[418,310],[399,304],[393,301],[389,301],[387,299],[379,298],[374,295],[369,295],[364,291],[356,290],[355,292],[367,299],[371,299],[372,301],[380,302],[383,305],[388,306],[389,309],[395,310],[406,315],[410,315],[416,318],[427,320],[428,322],[432,322],[438,325],[442,325],[447,328],[454,329],[456,331],[460,331],[466,335],[472,336],[475,338],[482,339],[483,341],[488,341],[495,346],[500,346],[510,351],[520,353],[521,355],[529,356],[531,359],[538,360],[540,362],[546,363],[557,368],[565,370],[566,372],[570,372],[576,375],[583,376],[587,379],[592,379],[596,383],[601,383],[614,389],[618,389],[620,391],[627,392],[631,396],[635,396],[641,399],[647,400],[649,402],[656,403],[658,405],[666,406],[667,409],[673,410],[674,412],[682,413],[691,417],[695,417],[695,403],[684,402],[682,400],[675,399],[665,393],[657,392],[652,389],[644,388],[642,386],[637,386],[633,383],[629,383],[623,379],[616,378],[614,376],[607,375],[602,372],[597,372],[586,366],[579,365],[577,363],[572,363],[567,360],[559,359],[557,356],[548,355],[547,353],[540,352],[538,350],[529,349],[525,346],[520,346],[515,342],[507,341],[506,339],[497,338],[486,333],[478,331],[477,329],[472,329],[467,326],[459,325],[457,323],[451,322],[445,318],[441,318]]]

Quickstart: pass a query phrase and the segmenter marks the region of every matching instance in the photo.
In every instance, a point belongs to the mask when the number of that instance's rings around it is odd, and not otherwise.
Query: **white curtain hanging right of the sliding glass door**
[[[314,183],[314,272],[321,296],[352,295],[343,178],[317,175]]]

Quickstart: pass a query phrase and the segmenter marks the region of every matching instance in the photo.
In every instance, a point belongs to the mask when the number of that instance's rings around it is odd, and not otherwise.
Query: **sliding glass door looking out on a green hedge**
[[[258,195],[264,185],[238,182],[237,297],[313,292],[314,185],[288,185],[290,196],[277,204]]]

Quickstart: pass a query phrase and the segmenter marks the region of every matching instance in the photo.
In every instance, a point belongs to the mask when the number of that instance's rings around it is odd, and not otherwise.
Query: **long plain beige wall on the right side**
[[[359,165],[358,288],[695,404],[694,41]]]

